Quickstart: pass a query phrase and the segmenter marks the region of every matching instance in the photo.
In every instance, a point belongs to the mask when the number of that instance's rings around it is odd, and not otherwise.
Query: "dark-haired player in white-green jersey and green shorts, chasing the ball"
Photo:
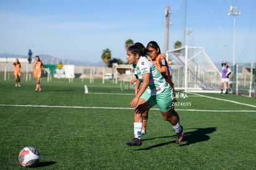
[[[130,107],[134,111],[134,138],[126,144],[129,146],[142,145],[142,114],[157,104],[163,119],[169,121],[176,131],[176,143],[179,144],[183,137],[183,127],[177,121],[177,117],[172,114],[174,96],[172,88],[164,79],[147,57],[142,56],[142,49],[133,45],[127,49],[127,61],[134,68],[135,77],[142,83],[130,102]]]

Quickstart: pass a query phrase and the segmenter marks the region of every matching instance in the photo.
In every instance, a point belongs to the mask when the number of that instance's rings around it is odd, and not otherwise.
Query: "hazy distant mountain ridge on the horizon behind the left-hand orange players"
[[[59,64],[59,62],[62,62],[63,64],[70,64],[75,66],[95,66],[95,67],[104,67],[103,62],[88,62],[88,61],[75,61],[70,59],[59,59],[57,57],[50,56],[48,54],[40,54],[41,61],[43,61],[44,64]],[[19,55],[19,54],[0,54],[0,57],[8,57],[8,58],[27,58],[28,56]]]

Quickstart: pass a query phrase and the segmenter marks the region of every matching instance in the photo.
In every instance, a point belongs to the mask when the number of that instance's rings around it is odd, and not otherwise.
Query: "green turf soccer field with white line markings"
[[[127,83],[41,85],[39,93],[35,81],[18,88],[0,80],[0,169],[23,169],[18,155],[27,146],[40,151],[35,169],[256,169],[254,98],[177,91],[181,145],[155,106],[142,146],[128,147],[134,91]]]

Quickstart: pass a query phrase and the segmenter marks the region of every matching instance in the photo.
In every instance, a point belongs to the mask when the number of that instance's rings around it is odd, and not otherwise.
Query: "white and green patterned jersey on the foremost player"
[[[132,67],[134,68],[135,77],[139,79],[140,82],[143,82],[143,74],[150,74],[150,83],[147,87],[147,91],[150,95],[157,95],[165,88],[170,88],[169,83],[166,82],[155,65],[148,61],[147,57],[141,56],[137,65],[132,64]]]

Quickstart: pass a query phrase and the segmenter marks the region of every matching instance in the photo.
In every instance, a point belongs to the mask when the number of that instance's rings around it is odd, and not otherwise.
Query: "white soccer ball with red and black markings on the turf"
[[[19,161],[22,166],[32,167],[35,166],[40,159],[39,151],[33,147],[25,147],[20,151]]]

